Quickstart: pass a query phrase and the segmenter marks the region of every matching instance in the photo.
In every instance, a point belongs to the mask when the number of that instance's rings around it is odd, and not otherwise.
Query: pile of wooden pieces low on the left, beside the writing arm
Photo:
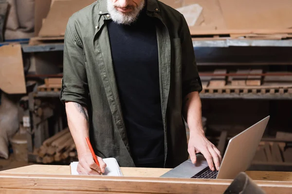
[[[77,159],[76,147],[69,128],[45,140],[35,154],[37,154],[37,162],[42,163]]]

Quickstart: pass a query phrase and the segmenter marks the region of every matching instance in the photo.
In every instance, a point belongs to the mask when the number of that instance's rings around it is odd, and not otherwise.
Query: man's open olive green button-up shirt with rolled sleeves
[[[175,167],[188,158],[183,97],[200,92],[201,80],[183,15],[157,0],[147,0],[146,8],[146,14],[156,19],[164,166]],[[98,0],[70,17],[60,99],[88,107],[90,139],[96,155],[114,157],[120,166],[133,167],[111,60],[106,25],[109,19],[107,0]]]

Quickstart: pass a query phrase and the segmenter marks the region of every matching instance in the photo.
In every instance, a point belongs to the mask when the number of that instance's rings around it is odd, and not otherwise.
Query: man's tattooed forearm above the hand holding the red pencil
[[[68,127],[72,134],[78,156],[90,152],[85,140],[89,136],[89,116],[87,108],[76,103],[66,102]]]

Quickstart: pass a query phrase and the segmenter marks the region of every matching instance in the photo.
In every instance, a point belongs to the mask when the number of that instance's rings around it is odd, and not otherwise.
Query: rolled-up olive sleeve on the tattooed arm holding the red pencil
[[[64,39],[63,79],[60,100],[88,105],[89,89],[82,41],[70,18]]]

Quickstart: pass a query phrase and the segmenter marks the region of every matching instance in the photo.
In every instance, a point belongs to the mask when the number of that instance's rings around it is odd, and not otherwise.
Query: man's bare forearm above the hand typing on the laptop
[[[201,98],[198,92],[191,92],[184,98],[183,118],[190,129],[190,136],[194,133],[204,134],[202,128]]]

